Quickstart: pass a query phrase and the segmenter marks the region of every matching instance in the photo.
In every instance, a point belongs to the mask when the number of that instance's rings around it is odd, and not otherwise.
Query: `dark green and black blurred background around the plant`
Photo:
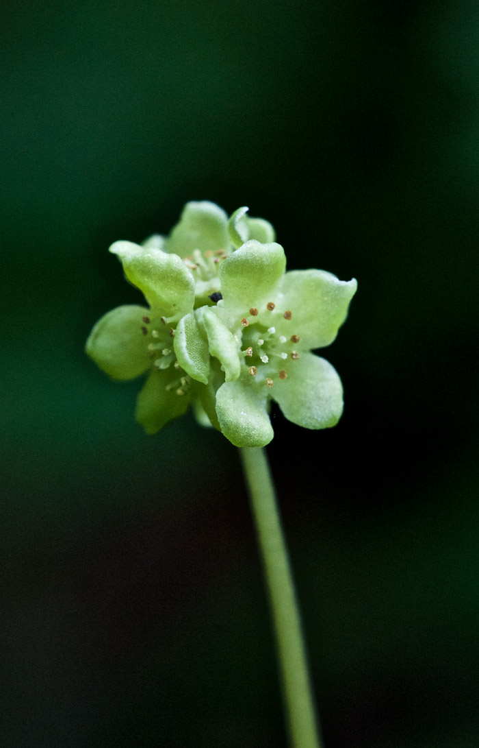
[[[187,200],[359,281],[336,429],[268,448],[325,748],[479,744],[479,7],[1,10],[1,746],[286,748],[234,447],[84,356]]]

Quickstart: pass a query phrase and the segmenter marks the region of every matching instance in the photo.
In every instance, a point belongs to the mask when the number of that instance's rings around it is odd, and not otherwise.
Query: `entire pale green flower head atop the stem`
[[[311,351],[333,342],[357,283],[285,272],[274,240],[272,225],[246,208],[228,220],[199,202],[187,203],[169,236],[110,247],[148,307],[105,314],[87,354],[113,379],[147,374],[136,417],[149,434],[190,405],[237,447],[271,441],[271,400],[307,429],[339,420],[339,376]]]

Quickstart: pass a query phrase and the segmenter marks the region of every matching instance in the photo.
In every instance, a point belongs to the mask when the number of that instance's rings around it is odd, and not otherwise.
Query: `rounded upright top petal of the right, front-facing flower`
[[[249,239],[219,269],[225,307],[236,307],[247,314],[250,307],[273,301],[273,291],[285,267],[281,245]]]

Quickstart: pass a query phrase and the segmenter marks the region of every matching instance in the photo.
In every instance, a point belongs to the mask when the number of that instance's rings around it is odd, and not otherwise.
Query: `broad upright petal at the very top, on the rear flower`
[[[187,203],[167,239],[168,251],[180,257],[187,257],[195,249],[204,252],[228,248],[228,215],[207,200]]]

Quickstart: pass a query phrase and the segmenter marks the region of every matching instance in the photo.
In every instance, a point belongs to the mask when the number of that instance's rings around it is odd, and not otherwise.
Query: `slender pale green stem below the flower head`
[[[269,589],[291,743],[294,748],[321,748],[298,603],[266,452],[244,447],[240,454]]]

